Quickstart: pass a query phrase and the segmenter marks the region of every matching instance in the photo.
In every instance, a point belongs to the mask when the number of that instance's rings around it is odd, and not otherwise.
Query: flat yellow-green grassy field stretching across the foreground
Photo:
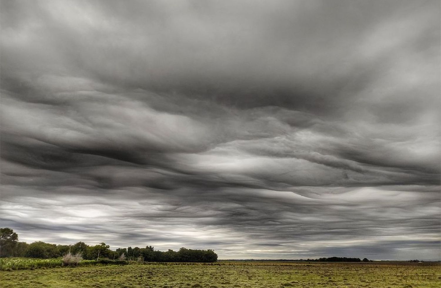
[[[440,266],[375,263],[148,263],[0,272],[0,287],[283,288],[441,287]]]

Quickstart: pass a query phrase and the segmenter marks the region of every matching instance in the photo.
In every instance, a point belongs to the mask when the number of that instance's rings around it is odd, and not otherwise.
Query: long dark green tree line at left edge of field
[[[127,247],[112,251],[109,245],[100,243],[90,246],[84,242],[73,245],[56,245],[37,241],[18,242],[18,235],[11,228],[0,228],[0,257],[58,258],[66,254],[81,254],[83,259],[120,259],[149,262],[216,262],[213,250],[193,250],[180,248],[179,251],[155,251],[152,246],[145,248]]]

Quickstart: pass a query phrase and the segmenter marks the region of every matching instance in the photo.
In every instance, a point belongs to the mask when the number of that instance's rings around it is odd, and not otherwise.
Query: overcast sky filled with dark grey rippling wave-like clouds
[[[2,0],[0,226],[440,260],[440,5]]]

